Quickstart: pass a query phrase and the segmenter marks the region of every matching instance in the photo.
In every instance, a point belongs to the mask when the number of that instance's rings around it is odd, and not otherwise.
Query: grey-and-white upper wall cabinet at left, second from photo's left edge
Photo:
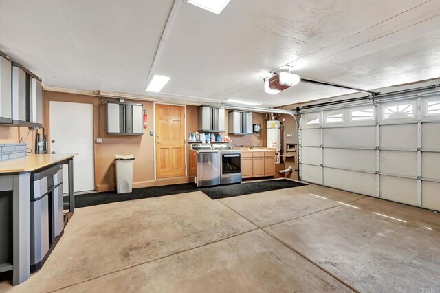
[[[42,122],[41,78],[12,62],[12,122]]]

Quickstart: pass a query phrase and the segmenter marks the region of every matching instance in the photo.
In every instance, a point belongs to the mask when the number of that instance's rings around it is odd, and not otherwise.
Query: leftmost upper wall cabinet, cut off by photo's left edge
[[[12,61],[0,52],[0,123],[12,123]]]

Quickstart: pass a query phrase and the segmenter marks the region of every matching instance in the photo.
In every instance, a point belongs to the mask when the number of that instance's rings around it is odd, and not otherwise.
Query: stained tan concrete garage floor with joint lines
[[[186,193],[78,208],[0,292],[439,292],[439,239],[439,214],[322,186]]]

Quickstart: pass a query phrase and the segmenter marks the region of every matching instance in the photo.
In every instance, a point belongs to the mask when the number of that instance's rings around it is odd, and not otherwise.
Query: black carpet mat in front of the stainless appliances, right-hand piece
[[[304,185],[307,184],[281,179],[206,187],[201,188],[201,191],[212,199],[221,199],[225,197],[249,195],[251,193],[263,193],[265,191],[275,191],[277,189],[292,188]]]

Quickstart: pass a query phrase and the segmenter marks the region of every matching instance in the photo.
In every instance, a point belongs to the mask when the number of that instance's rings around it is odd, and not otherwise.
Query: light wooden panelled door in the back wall
[[[185,176],[185,108],[155,105],[157,179]]]

